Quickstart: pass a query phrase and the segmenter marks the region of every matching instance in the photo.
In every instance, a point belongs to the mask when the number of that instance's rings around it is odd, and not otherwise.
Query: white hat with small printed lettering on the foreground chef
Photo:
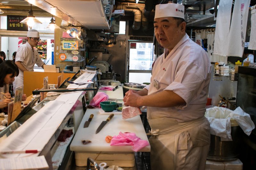
[[[185,8],[181,4],[158,4],[156,5],[155,18],[177,17],[184,19]]]

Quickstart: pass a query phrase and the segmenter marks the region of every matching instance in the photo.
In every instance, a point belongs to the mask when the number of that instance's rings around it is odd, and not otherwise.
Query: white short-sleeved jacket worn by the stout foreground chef
[[[171,90],[183,98],[186,105],[148,107],[148,118],[169,117],[184,122],[203,117],[211,77],[211,63],[207,53],[187,34],[168,55],[167,51],[155,61],[151,83],[146,87],[148,95]]]

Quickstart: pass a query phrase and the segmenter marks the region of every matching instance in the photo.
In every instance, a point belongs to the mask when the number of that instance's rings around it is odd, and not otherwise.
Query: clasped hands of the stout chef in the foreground
[[[138,101],[140,100],[140,95],[136,93],[134,90],[129,90],[125,93],[124,96],[124,105],[125,106],[132,106],[132,107],[140,107]]]

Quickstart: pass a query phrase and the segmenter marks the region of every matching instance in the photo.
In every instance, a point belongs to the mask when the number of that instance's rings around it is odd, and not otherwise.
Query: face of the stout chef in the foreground
[[[154,28],[157,41],[170,52],[185,35],[186,23],[173,17],[155,18]]]

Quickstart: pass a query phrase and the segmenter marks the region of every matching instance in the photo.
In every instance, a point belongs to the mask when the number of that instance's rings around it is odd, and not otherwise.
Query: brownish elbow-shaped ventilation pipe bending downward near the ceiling
[[[140,29],[140,25],[141,25],[141,11],[140,8],[138,7],[133,7],[133,6],[123,6],[121,4],[118,4],[116,6],[116,10],[124,10],[127,12],[132,12],[134,14],[134,21],[133,21],[133,25],[132,25],[132,29],[134,30],[139,30]]]

